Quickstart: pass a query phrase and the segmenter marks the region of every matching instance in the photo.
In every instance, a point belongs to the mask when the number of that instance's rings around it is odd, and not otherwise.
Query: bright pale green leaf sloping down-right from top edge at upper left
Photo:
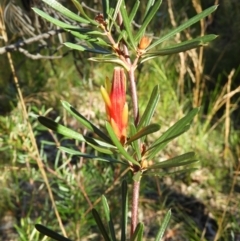
[[[62,13],[64,16],[73,19],[77,22],[80,23],[90,23],[88,20],[80,17],[79,15],[71,12],[69,9],[65,8],[62,4],[60,4],[58,1],[56,0],[42,0],[43,2],[45,2],[46,4],[48,4],[50,7],[54,8],[55,10],[57,10],[58,12]]]

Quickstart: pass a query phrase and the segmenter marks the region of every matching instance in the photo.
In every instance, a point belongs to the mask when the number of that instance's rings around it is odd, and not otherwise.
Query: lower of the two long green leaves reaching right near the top
[[[143,59],[140,62],[141,63],[144,62],[145,58],[147,60],[149,60],[149,59],[156,58],[158,56],[176,54],[176,53],[184,52],[184,51],[194,49],[194,48],[197,48],[200,46],[204,46],[208,42],[210,42],[216,38],[217,38],[217,35],[210,34],[210,35],[205,35],[205,36],[202,36],[202,37],[199,37],[196,39],[184,41],[182,43],[175,44],[175,45],[169,46],[167,48],[160,49],[158,51],[146,52],[144,55],[142,55]]]

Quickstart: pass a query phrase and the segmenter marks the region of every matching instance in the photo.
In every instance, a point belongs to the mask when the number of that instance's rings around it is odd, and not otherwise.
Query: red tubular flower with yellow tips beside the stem
[[[124,70],[114,68],[112,85],[106,79],[105,88],[101,86],[101,93],[106,105],[108,121],[122,144],[126,141],[128,122],[128,106],[126,103],[126,79]]]

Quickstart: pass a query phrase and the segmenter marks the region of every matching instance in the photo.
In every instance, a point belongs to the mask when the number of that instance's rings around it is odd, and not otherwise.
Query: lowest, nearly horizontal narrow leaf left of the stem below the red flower
[[[120,160],[117,160],[117,159],[113,159],[113,158],[110,158],[110,157],[105,157],[105,156],[102,157],[102,156],[95,156],[95,155],[91,155],[91,154],[87,154],[87,153],[82,153],[80,151],[73,150],[71,148],[64,147],[64,146],[60,146],[58,148],[59,148],[59,150],[64,151],[64,152],[66,152],[70,155],[73,155],[73,156],[81,156],[81,157],[84,157],[84,158],[87,158],[87,159],[93,159],[93,160],[110,162],[110,163],[121,163],[121,164],[126,165],[126,162],[123,162],[123,161],[120,161]]]

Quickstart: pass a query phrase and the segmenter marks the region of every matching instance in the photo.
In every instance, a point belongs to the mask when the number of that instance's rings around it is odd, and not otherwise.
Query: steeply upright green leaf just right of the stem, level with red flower
[[[140,130],[143,126],[147,126],[150,123],[150,120],[155,112],[156,106],[158,104],[160,98],[160,90],[159,85],[156,85],[153,88],[151,97],[148,101],[148,104],[146,106],[146,109],[142,115],[142,118],[139,121],[139,124],[137,126],[137,130]]]

